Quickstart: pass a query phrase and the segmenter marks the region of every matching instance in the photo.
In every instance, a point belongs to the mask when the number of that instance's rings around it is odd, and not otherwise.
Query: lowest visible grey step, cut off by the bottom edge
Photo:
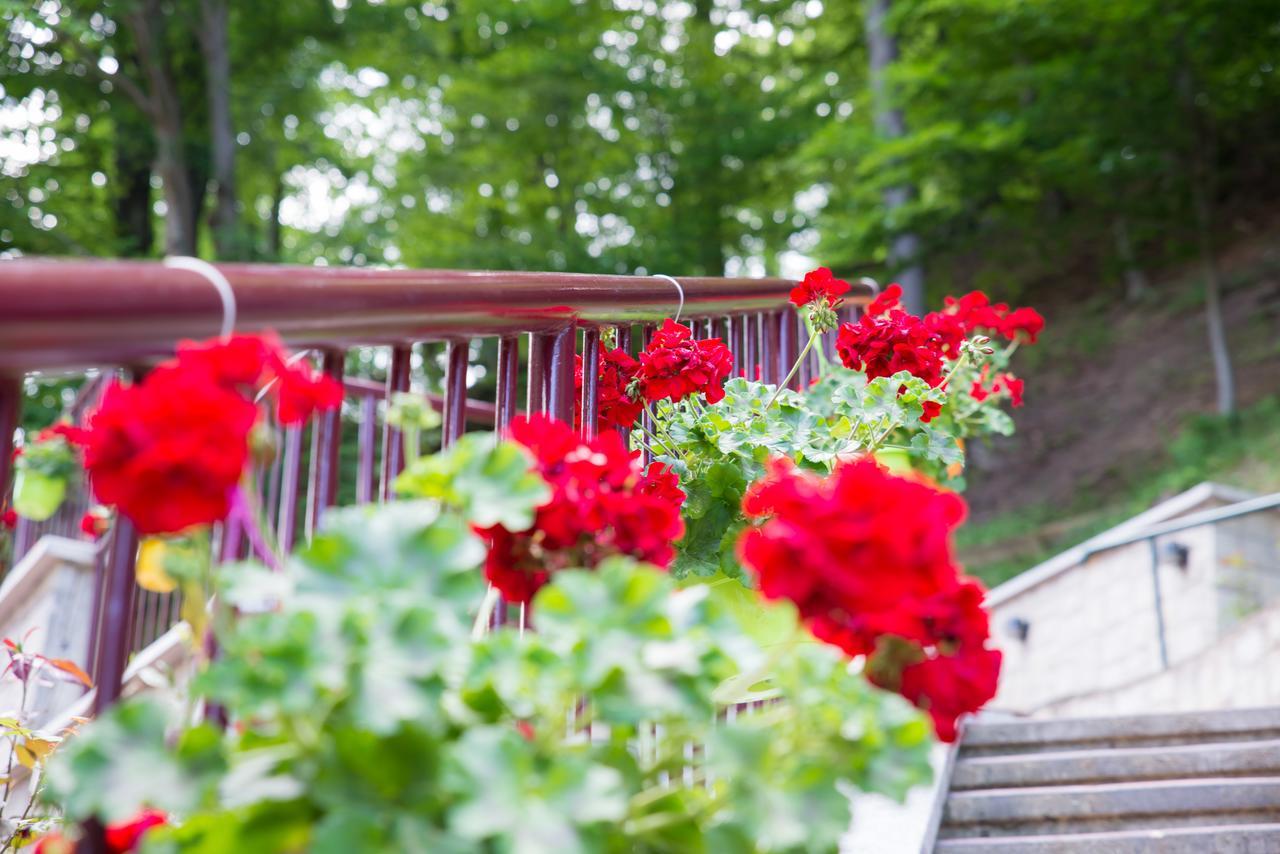
[[[1220,825],[1120,831],[1114,834],[1062,834],[1059,836],[1007,836],[1004,839],[948,839],[934,854],[1276,854],[1280,825]]]

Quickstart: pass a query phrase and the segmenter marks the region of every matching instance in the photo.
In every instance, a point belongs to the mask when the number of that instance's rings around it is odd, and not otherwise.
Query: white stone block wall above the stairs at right
[[[1132,522],[1094,540],[1121,538],[1153,524],[1239,501],[1231,490],[1203,485],[1170,499]],[[1164,545],[1189,548],[1179,567]],[[1280,512],[1189,529],[1157,540],[1165,643],[1170,671],[1203,658],[1233,626],[1249,622],[1266,602],[1280,600]],[[1108,713],[1101,698],[1135,685],[1152,685],[1165,673],[1156,621],[1155,585],[1147,543],[1135,543],[1088,556],[1073,549],[991,593],[992,626],[1005,653],[1000,691],[991,708],[1019,714]],[[1010,624],[1025,620],[1027,640],[1018,640]],[[1247,632],[1248,634],[1248,632]],[[1262,636],[1262,635],[1260,635]],[[1253,638],[1253,635],[1251,635]],[[1247,643],[1267,647],[1268,640]],[[1242,641],[1244,643],[1244,641]],[[1252,648],[1251,648],[1252,649]],[[1260,653],[1261,654],[1261,653]],[[1272,657],[1280,671],[1280,657]],[[1193,668],[1194,670],[1194,668]],[[1176,686],[1158,680],[1155,705],[1135,698],[1133,711],[1155,711],[1170,702],[1169,691],[1185,691],[1187,708],[1221,708],[1224,677],[1187,677],[1212,684]],[[1277,676],[1280,680],[1280,676]],[[1268,688],[1249,688],[1266,694]],[[1280,690],[1280,686],[1277,686]],[[1198,699],[1197,699],[1198,698]],[[1156,697],[1148,699],[1157,699]],[[1126,700],[1129,702],[1129,700]],[[1178,705],[1183,708],[1183,705]]]

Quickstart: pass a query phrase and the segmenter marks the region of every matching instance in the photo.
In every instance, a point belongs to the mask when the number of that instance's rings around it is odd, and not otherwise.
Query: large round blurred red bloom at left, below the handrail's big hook
[[[180,365],[161,365],[136,385],[113,384],[82,439],[93,494],[143,534],[218,521],[256,419],[252,402]]]

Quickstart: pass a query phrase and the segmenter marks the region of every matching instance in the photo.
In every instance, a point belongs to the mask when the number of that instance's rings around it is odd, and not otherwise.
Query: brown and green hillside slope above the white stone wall
[[[972,455],[970,571],[997,584],[1202,480],[1280,490],[1280,220],[1224,254],[1225,311],[1242,411],[1211,415],[1212,369],[1194,269],[1153,277],[1144,298],[1066,286],[1027,353],[1018,435]]]

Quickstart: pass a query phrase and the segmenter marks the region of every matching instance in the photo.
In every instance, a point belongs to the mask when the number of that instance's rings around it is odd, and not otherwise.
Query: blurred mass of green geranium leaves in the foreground
[[[334,511],[280,572],[224,567],[195,689],[236,725],[125,700],[60,752],[50,798],[72,818],[182,816],[152,851],[831,851],[849,793],[927,780],[904,702],[824,645],[765,656],[705,586],[652,567],[557,572],[536,631],[474,636],[470,525],[495,483],[527,517],[529,471],[463,442],[408,471],[431,499]],[[769,704],[718,720],[744,680]]]

